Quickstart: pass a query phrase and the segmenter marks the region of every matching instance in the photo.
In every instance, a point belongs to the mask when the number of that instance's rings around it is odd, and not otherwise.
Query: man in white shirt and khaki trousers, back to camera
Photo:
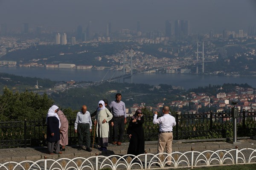
[[[169,106],[163,107],[163,116],[157,119],[157,111],[154,112],[154,124],[159,124],[158,146],[157,153],[163,153],[164,148],[168,154],[172,153],[172,127],[176,125],[175,117],[169,114]],[[167,166],[171,166],[172,158],[168,156]],[[159,164],[156,164],[160,166]]]

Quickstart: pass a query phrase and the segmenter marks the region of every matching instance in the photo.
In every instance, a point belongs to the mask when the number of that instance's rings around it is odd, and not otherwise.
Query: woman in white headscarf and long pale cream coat
[[[111,121],[113,115],[112,113],[105,108],[105,102],[100,100],[99,108],[97,109],[97,113],[95,116],[94,125],[96,126],[96,134],[98,136],[99,145],[101,146],[99,150],[104,151],[107,150],[108,146],[108,136],[109,136],[109,125],[108,122]]]

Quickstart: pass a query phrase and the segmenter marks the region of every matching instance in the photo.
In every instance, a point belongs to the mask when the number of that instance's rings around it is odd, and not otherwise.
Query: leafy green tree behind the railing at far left
[[[2,121],[45,119],[53,103],[47,94],[29,91],[13,93],[4,88],[3,95],[0,95],[0,118]]]

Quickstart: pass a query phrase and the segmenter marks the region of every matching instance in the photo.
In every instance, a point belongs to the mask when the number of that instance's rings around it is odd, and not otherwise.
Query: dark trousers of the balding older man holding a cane
[[[82,147],[83,143],[86,147],[90,147],[90,125],[88,123],[77,125],[77,135],[79,147]]]

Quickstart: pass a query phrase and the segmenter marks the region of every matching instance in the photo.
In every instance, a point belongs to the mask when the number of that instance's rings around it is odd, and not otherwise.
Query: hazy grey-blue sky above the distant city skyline
[[[239,32],[256,25],[256,0],[0,0],[0,23],[7,27],[43,26],[50,31],[72,31],[89,21],[95,31],[164,31],[165,20],[190,20],[190,30],[209,33],[224,28]],[[174,30],[173,30],[174,32]]]

